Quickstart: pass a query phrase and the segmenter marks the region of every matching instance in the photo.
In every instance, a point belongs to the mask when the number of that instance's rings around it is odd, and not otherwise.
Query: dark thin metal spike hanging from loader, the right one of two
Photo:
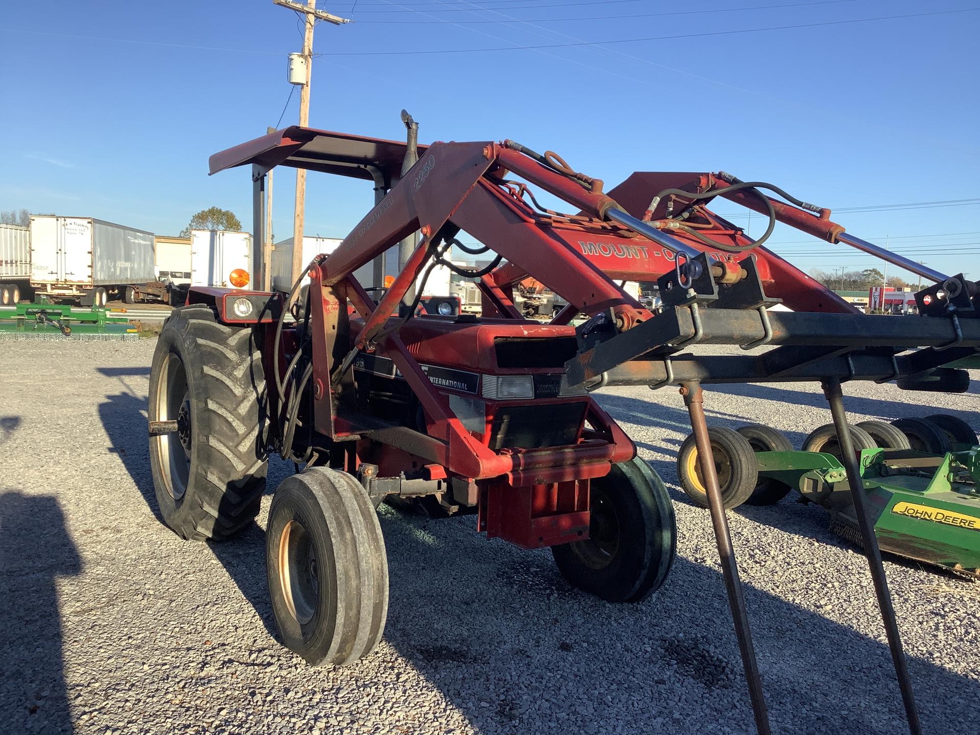
[[[912,735],[920,735],[922,725],[919,722],[918,711],[915,709],[912,684],[908,678],[906,654],[902,650],[902,637],[899,634],[899,624],[895,619],[895,609],[892,607],[892,595],[888,591],[885,567],[881,564],[881,550],[878,548],[878,538],[874,535],[874,523],[867,515],[864,483],[860,476],[860,466],[858,466],[858,456],[855,454],[854,442],[851,440],[851,432],[848,429],[848,417],[844,413],[844,396],[841,393],[841,381],[836,378],[824,380],[823,395],[827,397],[827,402],[830,404],[830,413],[834,417],[834,426],[837,428],[837,443],[841,448],[844,468],[848,472],[848,484],[851,487],[851,497],[854,500],[856,515],[858,515],[860,537],[864,544],[867,565],[871,568],[874,592],[878,597],[881,619],[885,623],[885,634],[888,636],[888,647],[892,651],[895,674],[899,679],[899,688],[902,690],[902,701],[906,706],[908,731]]]

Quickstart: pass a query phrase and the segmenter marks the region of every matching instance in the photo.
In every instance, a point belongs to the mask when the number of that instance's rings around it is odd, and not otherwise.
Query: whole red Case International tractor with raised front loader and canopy
[[[669,572],[674,515],[661,479],[590,392],[679,386],[756,724],[766,733],[701,386],[821,381],[909,727],[918,732],[841,385],[898,379],[962,389],[965,373],[943,366],[980,347],[977,284],[910,263],[845,232],[827,210],[726,173],[634,173],[607,193],[559,156],[514,141],[419,145],[403,173],[414,152],[396,141],[288,127],[211,158],[212,173],[251,166],[254,282],[273,167],[365,179],[376,199],[289,294],[192,288],[167,322],[151,372],[149,428],[157,497],[173,530],[226,538],[258,513],[270,453],[302,465],[272,497],[267,555],[282,640],[314,664],[366,656],[383,632],[387,564],[374,510],[387,496],[430,495],[475,509],[488,537],[550,547],[571,585],[637,602]],[[536,191],[569,212],[539,206]],[[765,236],[781,221],[921,273],[935,283],[918,294],[922,318],[858,314],[766,250],[764,238],[754,242],[711,213],[715,197],[765,214]],[[416,233],[389,286],[354,277]],[[492,260],[462,269],[449,259],[454,245]],[[439,264],[479,279],[482,316],[417,315],[416,286]],[[380,280],[384,270],[373,272]],[[527,277],[567,302],[548,323],[515,308],[514,284]],[[617,280],[658,281],[662,308],[644,308]],[[295,301],[304,284],[306,298]],[[780,299],[795,311],[769,311]],[[584,321],[573,326],[577,316]],[[769,349],[696,352],[704,344]]]

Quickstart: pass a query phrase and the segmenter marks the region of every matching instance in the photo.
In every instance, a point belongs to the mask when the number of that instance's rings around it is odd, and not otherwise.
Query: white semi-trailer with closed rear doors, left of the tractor
[[[30,286],[49,301],[105,306],[156,281],[153,233],[91,217],[30,216]]]

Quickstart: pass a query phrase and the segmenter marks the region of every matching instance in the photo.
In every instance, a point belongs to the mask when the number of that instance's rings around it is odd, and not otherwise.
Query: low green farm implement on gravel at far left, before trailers
[[[0,308],[0,336],[136,336],[128,319],[106,309],[61,304],[18,304]]]

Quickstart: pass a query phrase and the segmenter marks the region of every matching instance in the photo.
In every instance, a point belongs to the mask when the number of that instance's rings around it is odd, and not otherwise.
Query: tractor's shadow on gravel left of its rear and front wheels
[[[146,426],[147,399],[133,391],[126,381],[127,377],[149,374],[149,368],[98,369],[103,374],[117,377],[124,388],[121,393],[107,395],[98,407],[99,418],[109,437],[109,451],[120,458],[136,489],[143,496],[147,508],[166,527],[163,516],[160,515],[150,469],[149,434]],[[266,493],[271,493],[288,473],[292,473],[292,466],[286,466],[278,458],[270,458]],[[176,538],[174,535],[173,539]],[[242,596],[258,613],[266,630],[274,636],[275,621],[266,584],[266,532],[253,522],[228,541],[207,544],[234,580]]]

